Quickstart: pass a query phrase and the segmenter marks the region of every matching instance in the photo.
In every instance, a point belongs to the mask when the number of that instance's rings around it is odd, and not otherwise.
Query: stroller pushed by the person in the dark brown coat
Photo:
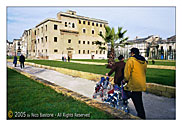
[[[93,94],[93,98],[97,98],[97,96],[101,97],[101,100],[104,100],[104,97],[107,94],[108,85],[111,85],[109,82],[109,77],[101,77],[101,80],[95,86],[95,92]]]

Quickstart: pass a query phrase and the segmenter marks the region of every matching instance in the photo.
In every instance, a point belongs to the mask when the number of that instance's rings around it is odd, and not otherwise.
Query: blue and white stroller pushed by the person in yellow
[[[129,97],[127,93],[124,91],[124,86],[125,85],[123,83],[121,83],[121,86],[114,85],[113,89],[108,91],[107,98],[104,99],[104,102],[110,104],[112,107],[121,109],[126,113],[129,113]]]

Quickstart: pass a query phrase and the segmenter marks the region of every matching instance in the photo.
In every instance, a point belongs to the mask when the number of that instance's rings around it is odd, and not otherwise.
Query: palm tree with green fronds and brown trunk
[[[111,44],[111,51],[109,54],[108,65],[107,68],[112,68],[115,64],[115,52],[114,49],[116,47],[116,42],[119,44],[128,40],[128,37],[124,38],[124,34],[127,30],[122,32],[122,27],[118,27],[117,33],[115,33],[114,28],[110,28],[109,26],[105,26],[105,35],[99,34],[104,40],[104,42],[96,41],[96,45],[99,45],[99,49],[106,50],[105,47],[102,47],[103,44]]]

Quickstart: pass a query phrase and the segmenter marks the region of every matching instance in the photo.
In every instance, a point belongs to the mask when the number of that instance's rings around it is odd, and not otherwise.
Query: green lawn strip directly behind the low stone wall
[[[88,65],[71,62],[53,61],[53,60],[27,60],[36,64],[42,64],[53,67],[62,67],[67,69],[79,70],[84,72],[105,75],[110,69],[106,69],[104,65]],[[175,86],[176,83],[175,70],[163,69],[147,69],[147,82],[158,83],[163,85]]]

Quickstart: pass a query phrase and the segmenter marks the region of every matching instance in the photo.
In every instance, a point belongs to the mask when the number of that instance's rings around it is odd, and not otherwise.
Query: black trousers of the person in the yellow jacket
[[[135,106],[135,109],[137,111],[137,116],[141,119],[146,119],[145,117],[145,110],[143,107],[143,101],[142,101],[142,92],[140,91],[126,91],[127,94],[129,94],[129,97],[132,99],[133,104]]]

